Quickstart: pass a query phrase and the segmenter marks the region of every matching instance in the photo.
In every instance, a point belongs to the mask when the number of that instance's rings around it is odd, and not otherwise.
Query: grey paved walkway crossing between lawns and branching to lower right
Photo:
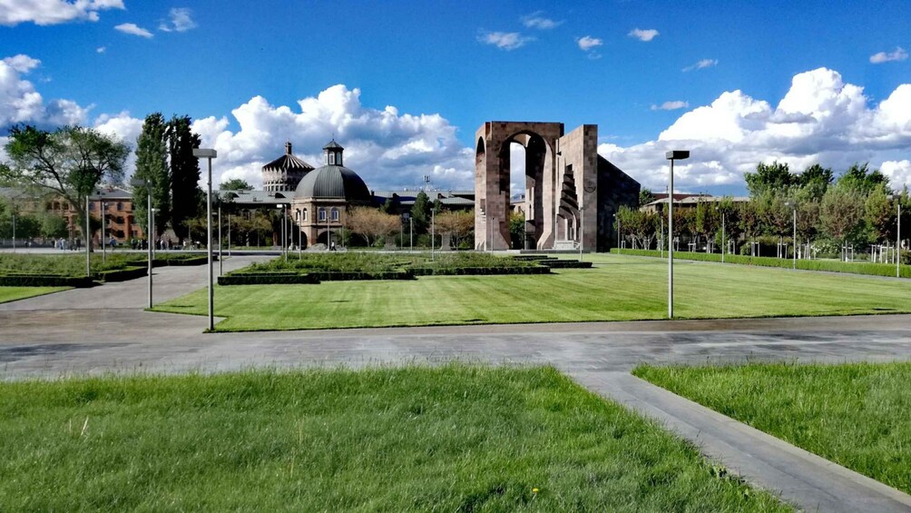
[[[225,270],[255,257],[235,257]],[[204,267],[156,269],[156,303],[204,286]],[[655,417],[805,509],[911,511],[911,498],[629,374],[640,363],[911,358],[911,315],[202,333],[205,317],[142,311],[145,280],[0,304],[0,379],[273,365],[553,364]],[[216,301],[217,301],[216,297]]]

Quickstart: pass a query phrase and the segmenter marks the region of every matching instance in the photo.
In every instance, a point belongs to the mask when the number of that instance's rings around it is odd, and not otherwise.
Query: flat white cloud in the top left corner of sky
[[[0,26],[98,21],[98,11],[123,8],[123,0],[0,0]]]

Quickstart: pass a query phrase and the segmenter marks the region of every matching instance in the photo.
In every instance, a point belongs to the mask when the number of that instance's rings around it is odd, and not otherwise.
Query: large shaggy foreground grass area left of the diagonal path
[[[3,383],[0,418],[9,511],[790,510],[553,368]]]

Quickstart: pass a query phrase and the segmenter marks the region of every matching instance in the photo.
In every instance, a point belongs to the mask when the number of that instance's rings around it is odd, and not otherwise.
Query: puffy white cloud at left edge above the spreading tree
[[[0,61],[0,127],[15,123],[65,125],[85,121],[88,108],[67,99],[45,103],[35,85],[23,77],[40,64],[38,59],[22,54]]]

